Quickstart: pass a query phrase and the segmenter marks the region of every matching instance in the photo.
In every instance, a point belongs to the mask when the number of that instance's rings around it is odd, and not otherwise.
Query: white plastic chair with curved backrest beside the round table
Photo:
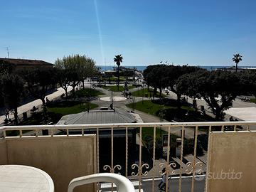
[[[132,182],[128,178],[119,174],[92,174],[89,176],[81,176],[74,178],[68,185],[68,192],[73,192],[73,189],[77,186],[82,186],[89,183],[96,182],[110,182],[115,183],[117,186],[117,192],[135,192]]]

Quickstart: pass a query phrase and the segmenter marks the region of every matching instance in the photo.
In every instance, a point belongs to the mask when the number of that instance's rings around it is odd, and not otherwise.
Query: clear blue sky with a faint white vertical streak
[[[256,65],[256,1],[0,1],[0,58],[54,63],[85,54],[97,65]]]

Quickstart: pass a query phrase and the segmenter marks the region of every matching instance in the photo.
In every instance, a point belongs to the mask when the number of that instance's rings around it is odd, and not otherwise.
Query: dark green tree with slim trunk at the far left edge
[[[4,74],[0,78],[1,95],[6,107],[14,109],[14,123],[18,124],[18,105],[23,97],[23,79],[14,74]]]

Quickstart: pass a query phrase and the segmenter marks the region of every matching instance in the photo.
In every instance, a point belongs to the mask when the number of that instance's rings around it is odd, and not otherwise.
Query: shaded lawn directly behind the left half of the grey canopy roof
[[[98,107],[98,105],[93,104],[93,103],[86,103],[86,102],[53,102],[50,104],[47,108],[48,112],[53,112],[56,114],[73,114],[73,113],[79,113],[79,112],[84,112],[87,110],[88,105],[90,106],[90,110]]]

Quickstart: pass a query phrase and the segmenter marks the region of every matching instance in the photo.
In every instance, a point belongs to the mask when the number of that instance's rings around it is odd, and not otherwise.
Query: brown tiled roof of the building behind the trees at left
[[[30,60],[30,59],[14,59],[14,58],[0,58],[0,62],[4,61],[6,63],[10,63],[12,65],[50,65],[52,63],[48,63],[43,60]]]

